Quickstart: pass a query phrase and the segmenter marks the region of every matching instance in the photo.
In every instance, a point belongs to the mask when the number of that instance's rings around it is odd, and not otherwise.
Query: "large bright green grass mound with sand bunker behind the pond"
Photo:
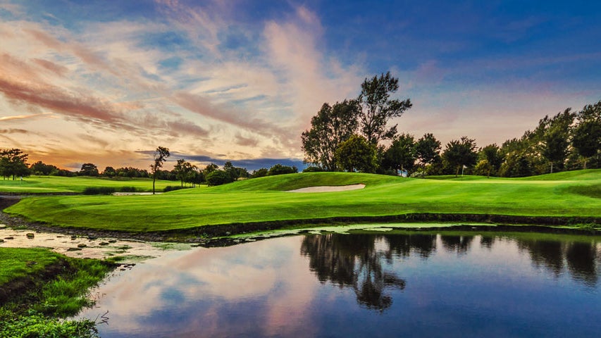
[[[28,197],[5,210],[64,227],[149,232],[207,225],[407,213],[550,217],[601,215],[601,170],[527,179],[435,177],[422,180],[357,173],[299,173],[155,196]],[[364,183],[348,192],[289,189]]]

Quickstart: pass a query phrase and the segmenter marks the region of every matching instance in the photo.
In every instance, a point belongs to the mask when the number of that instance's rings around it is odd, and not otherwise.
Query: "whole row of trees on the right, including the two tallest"
[[[581,111],[571,108],[541,119],[534,130],[501,146],[481,148],[475,139],[442,144],[431,133],[416,139],[388,126],[411,108],[411,101],[390,99],[398,79],[390,72],[366,78],[356,99],[323,104],[301,134],[305,171],[358,171],[397,175],[459,173],[524,177],[562,170],[599,168],[601,101]]]

